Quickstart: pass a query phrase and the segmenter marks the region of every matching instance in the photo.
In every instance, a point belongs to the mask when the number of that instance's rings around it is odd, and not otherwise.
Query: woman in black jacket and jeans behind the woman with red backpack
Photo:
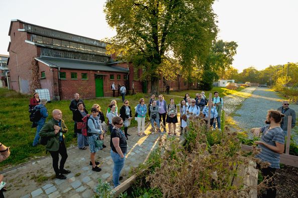
[[[81,124],[82,118],[88,114],[82,102],[77,103],[77,110],[73,112],[72,120],[75,122],[74,131],[77,133],[77,146],[81,150],[85,150],[88,146],[88,137],[82,135]]]

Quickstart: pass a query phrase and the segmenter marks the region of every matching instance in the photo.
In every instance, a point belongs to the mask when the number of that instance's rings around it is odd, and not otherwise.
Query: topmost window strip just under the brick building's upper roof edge
[[[106,47],[106,43],[101,42],[101,41],[97,41],[97,40],[89,39],[89,38],[85,38],[85,37],[80,37],[80,36],[76,36],[76,35],[71,35],[68,33],[63,33],[63,32],[59,32],[59,31],[55,31],[55,30],[49,30],[47,28],[41,28],[41,27],[24,24],[24,29],[28,32],[45,35],[48,37],[56,37],[56,38],[61,38],[61,39],[66,39],[66,40],[72,40],[72,41],[76,41],[76,42],[86,43],[89,45],[103,47],[103,48]]]

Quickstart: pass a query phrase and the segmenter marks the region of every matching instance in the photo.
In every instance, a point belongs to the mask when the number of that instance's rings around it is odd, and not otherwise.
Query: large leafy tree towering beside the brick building
[[[107,0],[106,19],[117,36],[109,51],[143,68],[141,80],[158,91],[166,55],[182,66],[184,77],[200,72],[218,33],[214,0]]]

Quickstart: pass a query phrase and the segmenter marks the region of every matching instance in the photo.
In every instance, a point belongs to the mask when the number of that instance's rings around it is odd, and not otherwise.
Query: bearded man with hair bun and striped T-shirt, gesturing
[[[257,168],[261,170],[264,178],[271,178],[271,180],[268,180],[266,193],[262,192],[260,197],[271,198],[276,196],[274,174],[276,169],[279,168],[280,154],[284,150],[284,133],[279,126],[283,117],[284,115],[279,111],[269,110],[265,121],[267,125],[250,130],[255,136],[262,133],[261,140],[254,142],[258,144],[258,148],[261,148],[261,151],[255,155],[259,159],[257,160]],[[264,162],[269,162],[269,165],[265,166]]]

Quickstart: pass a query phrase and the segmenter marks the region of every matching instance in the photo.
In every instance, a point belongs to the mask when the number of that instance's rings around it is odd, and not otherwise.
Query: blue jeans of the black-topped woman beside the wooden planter
[[[113,183],[114,183],[114,187],[117,187],[120,184],[119,177],[120,177],[121,170],[122,170],[122,168],[124,166],[126,153],[123,153],[123,154],[124,154],[124,157],[121,158],[118,153],[114,152],[111,149],[111,157],[112,157],[112,159],[114,161],[114,168],[113,168]]]

